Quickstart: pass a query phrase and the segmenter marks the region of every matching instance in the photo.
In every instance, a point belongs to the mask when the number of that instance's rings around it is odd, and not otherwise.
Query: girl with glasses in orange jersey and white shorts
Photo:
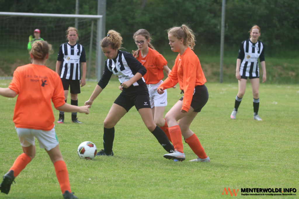
[[[147,89],[149,90],[152,116],[155,124],[161,127],[167,135],[167,138],[171,141],[167,123],[163,118],[164,110],[167,106],[167,92],[165,91],[161,95],[157,92],[158,86],[163,82],[163,70],[166,72],[167,76],[171,70],[167,66],[166,59],[158,53],[150,43],[152,38],[147,30],[137,30],[133,35],[133,39],[138,47],[138,50],[132,51],[133,56],[147,69],[147,73],[143,75],[143,78],[147,84]],[[174,88],[175,87],[176,86],[174,86]]]

